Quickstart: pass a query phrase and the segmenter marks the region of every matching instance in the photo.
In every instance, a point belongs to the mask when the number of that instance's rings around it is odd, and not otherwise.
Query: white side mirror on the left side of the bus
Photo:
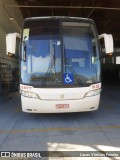
[[[9,33],[6,36],[6,54],[11,56],[16,53],[16,39],[20,38],[19,33]]]

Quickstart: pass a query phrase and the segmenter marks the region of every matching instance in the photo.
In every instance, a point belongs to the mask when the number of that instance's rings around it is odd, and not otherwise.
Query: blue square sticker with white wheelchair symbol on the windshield
[[[70,73],[64,73],[64,84],[74,84],[74,76]]]

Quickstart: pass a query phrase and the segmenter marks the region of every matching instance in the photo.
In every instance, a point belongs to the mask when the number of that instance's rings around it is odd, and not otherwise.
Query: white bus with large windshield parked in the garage
[[[104,39],[106,53],[112,52],[112,36],[98,36],[91,19],[25,19],[20,49],[22,111],[97,110],[101,93],[99,37]]]

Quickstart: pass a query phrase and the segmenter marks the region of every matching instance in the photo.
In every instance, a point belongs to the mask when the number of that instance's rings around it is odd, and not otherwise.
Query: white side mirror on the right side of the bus
[[[101,34],[99,35],[99,39],[104,39],[105,53],[112,54],[113,53],[113,37],[111,34]]]

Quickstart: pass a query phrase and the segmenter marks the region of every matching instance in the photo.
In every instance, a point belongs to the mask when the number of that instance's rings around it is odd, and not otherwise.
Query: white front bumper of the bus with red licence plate
[[[85,112],[98,109],[100,95],[75,100],[40,100],[21,95],[22,111],[29,113]]]

